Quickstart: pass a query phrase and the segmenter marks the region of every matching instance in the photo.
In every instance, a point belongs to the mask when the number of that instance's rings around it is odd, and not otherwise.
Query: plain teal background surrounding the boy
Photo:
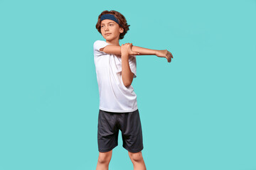
[[[147,169],[256,169],[256,1],[0,0],[0,169],[97,164],[97,17],[121,12],[137,56]],[[133,169],[113,149],[111,170]]]

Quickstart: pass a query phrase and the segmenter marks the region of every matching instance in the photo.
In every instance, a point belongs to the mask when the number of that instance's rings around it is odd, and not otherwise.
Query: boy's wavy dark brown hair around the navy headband
[[[124,35],[125,35],[125,34],[127,33],[127,31],[129,30],[129,26],[130,26],[130,25],[127,24],[127,20],[126,20],[125,17],[122,15],[122,13],[119,13],[119,12],[117,12],[117,11],[114,11],[114,10],[112,10],[112,11],[107,11],[107,10],[106,10],[106,11],[103,11],[102,13],[100,13],[100,16],[98,17],[98,21],[97,21],[97,24],[96,24],[97,30],[98,30],[99,33],[101,34],[101,31],[100,31],[100,24],[101,24],[100,17],[101,17],[102,15],[104,15],[104,14],[107,14],[107,13],[114,15],[114,17],[117,18],[117,20],[119,21],[119,26],[122,27],[122,28],[124,28],[124,32],[123,32],[123,33],[120,33],[120,35],[119,35],[119,40],[120,40],[120,39],[123,39],[123,38],[124,38]]]

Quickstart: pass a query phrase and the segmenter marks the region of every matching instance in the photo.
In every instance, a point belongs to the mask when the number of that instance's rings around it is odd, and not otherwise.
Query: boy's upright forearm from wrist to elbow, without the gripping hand
[[[132,84],[134,74],[129,67],[129,55],[127,53],[122,54],[122,81],[124,86]]]

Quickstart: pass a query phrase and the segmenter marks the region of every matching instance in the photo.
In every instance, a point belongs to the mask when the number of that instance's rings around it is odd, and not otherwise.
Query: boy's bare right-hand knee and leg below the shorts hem
[[[134,166],[134,170],[146,170],[142,152],[132,153],[128,151],[128,154]]]

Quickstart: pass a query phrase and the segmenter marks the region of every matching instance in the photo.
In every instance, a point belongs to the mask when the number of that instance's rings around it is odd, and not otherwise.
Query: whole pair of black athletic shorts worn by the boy
[[[99,152],[109,152],[118,145],[118,132],[122,132],[124,149],[140,152],[143,149],[142,125],[139,110],[127,113],[99,111],[97,142]]]

